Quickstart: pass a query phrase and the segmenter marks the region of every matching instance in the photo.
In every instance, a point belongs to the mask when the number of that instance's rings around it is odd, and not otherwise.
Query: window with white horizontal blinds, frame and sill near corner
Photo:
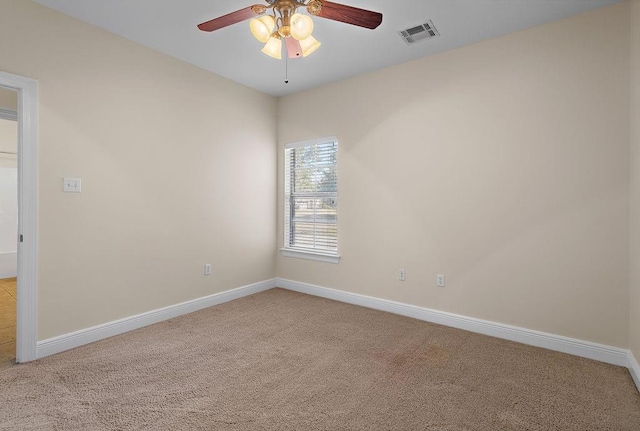
[[[338,263],[338,141],[289,144],[284,155],[282,254]]]

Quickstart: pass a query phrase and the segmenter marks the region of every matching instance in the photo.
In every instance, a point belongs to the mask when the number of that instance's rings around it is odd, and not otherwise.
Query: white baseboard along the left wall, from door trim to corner
[[[164,320],[173,319],[174,317],[193,313],[194,311],[202,310],[214,305],[233,301],[234,299],[253,295],[254,293],[272,289],[275,286],[275,279],[266,280],[250,284],[248,286],[239,287],[237,289],[205,296],[203,298],[194,299],[192,301],[183,302],[181,304],[148,311],[146,313],[94,326],[92,328],[82,329],[80,331],[38,341],[37,358],[43,358],[45,356],[113,337],[114,335],[133,331],[134,329],[153,325],[154,323],[159,323]]]

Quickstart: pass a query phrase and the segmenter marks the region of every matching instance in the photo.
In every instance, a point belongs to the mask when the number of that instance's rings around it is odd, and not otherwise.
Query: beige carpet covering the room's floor
[[[274,289],[0,370],[2,430],[640,430],[624,368]]]

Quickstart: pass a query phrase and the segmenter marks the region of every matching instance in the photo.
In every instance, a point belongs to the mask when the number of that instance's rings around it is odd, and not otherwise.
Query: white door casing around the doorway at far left
[[[38,82],[0,72],[0,86],[18,92],[18,298],[16,362],[36,359]]]

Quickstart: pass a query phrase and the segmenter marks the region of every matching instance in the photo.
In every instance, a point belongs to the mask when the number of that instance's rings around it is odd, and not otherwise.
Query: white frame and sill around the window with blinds
[[[284,196],[284,199],[283,199],[283,201],[284,201],[283,202],[283,205],[284,205],[283,245],[284,246],[280,249],[280,252],[281,252],[282,256],[284,256],[284,257],[307,259],[307,260],[314,260],[314,261],[318,261],[318,262],[334,263],[334,264],[337,264],[340,261],[340,255],[338,254],[337,238],[336,238],[336,250],[335,250],[335,252],[329,251],[329,250],[322,250],[322,249],[306,248],[306,247],[291,247],[288,244],[288,241],[289,241],[289,238],[290,238],[291,226],[292,226],[292,217],[291,217],[292,200],[291,200],[291,197],[293,196],[293,193],[291,193],[291,192],[287,193],[287,191],[288,191],[287,184],[289,183],[289,187],[291,187],[291,183],[294,180],[293,180],[293,178],[288,180],[288,176],[292,175],[293,173],[290,172],[291,166],[288,165],[287,150],[295,149],[295,148],[308,147],[308,146],[317,146],[317,145],[328,144],[328,143],[335,143],[336,146],[337,146],[337,148],[336,148],[336,162],[335,162],[335,167],[334,167],[335,172],[336,172],[336,191],[335,191],[336,221],[335,221],[335,225],[336,225],[336,230],[337,230],[337,228],[338,228],[338,179],[337,179],[337,170],[338,170],[338,151],[339,151],[339,148],[340,148],[340,145],[339,145],[339,142],[338,142],[338,138],[335,137],[335,136],[330,136],[330,137],[326,137],[326,138],[313,139],[313,140],[309,140],[309,141],[289,143],[289,144],[285,144],[285,146],[284,146],[284,151],[283,151],[283,158],[284,158],[284,165],[283,165],[284,166],[284,169],[283,169],[283,176],[284,176],[284,178],[283,178],[284,179],[284,181],[283,181],[283,196]],[[333,192],[329,192],[329,193],[333,193]]]

